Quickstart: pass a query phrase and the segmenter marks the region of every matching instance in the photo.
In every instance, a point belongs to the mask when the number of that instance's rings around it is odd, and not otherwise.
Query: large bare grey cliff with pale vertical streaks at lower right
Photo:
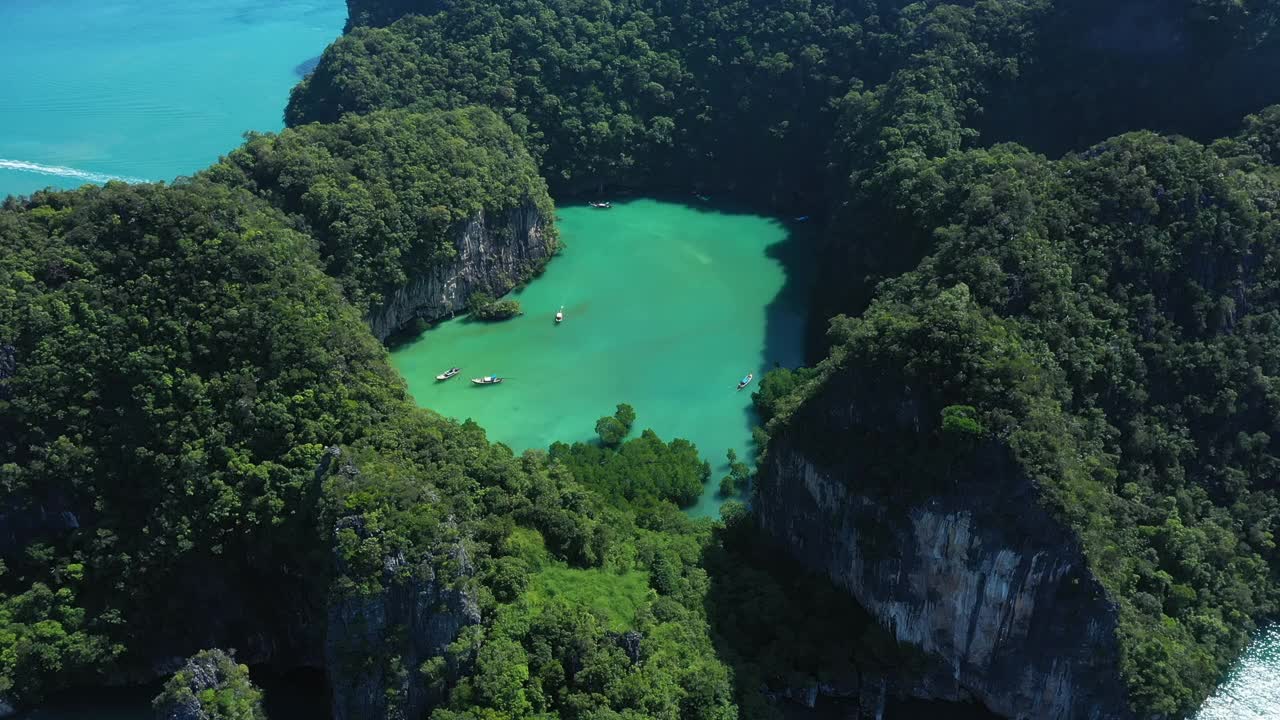
[[[851,378],[832,384],[769,445],[764,530],[948,666],[955,688],[940,698],[968,693],[1028,720],[1130,717],[1115,609],[1010,454],[988,443],[929,492],[918,478],[865,479],[884,457],[823,454],[812,438],[910,433],[928,415],[910,400],[860,406]]]

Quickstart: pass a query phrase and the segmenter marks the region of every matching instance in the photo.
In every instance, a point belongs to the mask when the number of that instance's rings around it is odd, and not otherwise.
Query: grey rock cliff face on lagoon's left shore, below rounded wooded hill
[[[461,311],[472,292],[506,293],[550,259],[556,241],[547,232],[549,223],[532,202],[500,215],[476,214],[454,231],[453,261],[393,292],[369,314],[369,327],[387,340],[415,319],[430,322]]]

